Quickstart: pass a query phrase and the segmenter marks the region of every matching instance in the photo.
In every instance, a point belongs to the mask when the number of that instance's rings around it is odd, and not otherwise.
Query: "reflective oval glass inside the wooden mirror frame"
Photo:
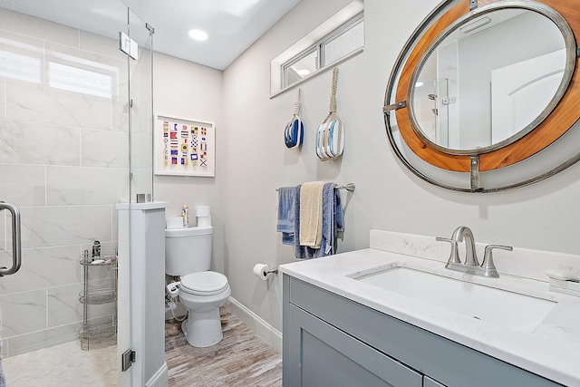
[[[493,149],[549,114],[565,39],[544,15],[498,9],[457,25],[424,58],[411,82],[418,134],[448,150]]]

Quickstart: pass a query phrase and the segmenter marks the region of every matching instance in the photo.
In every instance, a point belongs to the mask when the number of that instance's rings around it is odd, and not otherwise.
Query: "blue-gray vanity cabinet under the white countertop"
[[[284,386],[557,386],[284,275]]]

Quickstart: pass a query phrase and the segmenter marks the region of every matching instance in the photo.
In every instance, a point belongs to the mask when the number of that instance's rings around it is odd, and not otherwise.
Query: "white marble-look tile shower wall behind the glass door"
[[[106,251],[117,246],[115,204],[129,198],[130,184],[129,76],[114,40],[2,8],[0,22],[0,50],[32,63],[25,75],[0,69],[0,200],[22,218],[23,266],[0,280],[3,354],[12,356],[77,339],[79,256],[95,239]],[[111,96],[55,87],[54,63],[108,77]],[[2,266],[12,248],[5,212]]]

